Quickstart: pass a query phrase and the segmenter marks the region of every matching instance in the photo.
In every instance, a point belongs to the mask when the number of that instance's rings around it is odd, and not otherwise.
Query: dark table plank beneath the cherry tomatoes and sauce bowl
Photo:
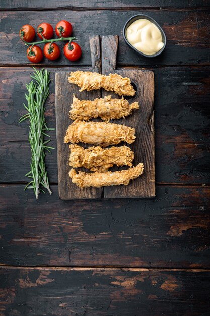
[[[147,11],[141,11],[148,13]],[[73,24],[73,35],[83,50],[82,58],[78,62],[69,62],[64,55],[57,61],[44,59],[42,65],[91,65],[89,36],[92,35],[119,35],[118,64],[122,65],[209,65],[210,45],[210,14],[209,11],[151,11],[153,17],[163,27],[167,45],[157,58],[144,58],[133,51],[122,37],[125,22],[139,11],[16,11],[0,13],[0,64],[20,65],[29,61],[26,56],[26,47],[19,39],[18,33],[23,24],[32,24],[37,27],[40,21],[56,23],[63,18]],[[100,17],[100,23],[99,23]],[[24,21],[24,22],[23,22]],[[82,21],[82,23],[81,23]],[[91,21],[91,23],[90,23]],[[64,43],[60,44],[61,50]]]

